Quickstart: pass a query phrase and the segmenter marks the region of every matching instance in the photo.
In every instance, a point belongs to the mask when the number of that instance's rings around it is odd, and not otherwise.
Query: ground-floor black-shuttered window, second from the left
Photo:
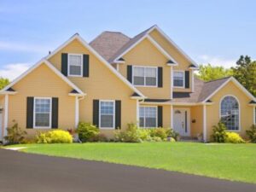
[[[114,102],[100,101],[100,127],[113,128],[114,127]]]

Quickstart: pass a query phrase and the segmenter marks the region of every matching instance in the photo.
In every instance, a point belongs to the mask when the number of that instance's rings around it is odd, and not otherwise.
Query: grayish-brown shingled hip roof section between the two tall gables
[[[131,38],[122,32],[102,32],[90,42],[90,46],[108,61],[130,40]]]

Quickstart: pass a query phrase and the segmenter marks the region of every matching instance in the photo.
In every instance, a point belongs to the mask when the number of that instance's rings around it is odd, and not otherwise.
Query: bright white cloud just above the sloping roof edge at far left
[[[31,64],[29,63],[13,63],[7,64],[4,67],[0,68],[0,77],[7,78],[9,80],[14,80],[21,73],[24,73]]]

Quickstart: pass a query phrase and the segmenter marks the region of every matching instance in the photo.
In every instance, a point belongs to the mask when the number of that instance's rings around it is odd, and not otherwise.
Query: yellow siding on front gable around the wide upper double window
[[[127,65],[163,67],[163,87],[142,87],[142,91],[148,98],[170,98],[171,97],[171,69],[166,66],[167,58],[146,38],[136,47],[123,56],[125,64],[119,65],[119,73],[127,78]]]

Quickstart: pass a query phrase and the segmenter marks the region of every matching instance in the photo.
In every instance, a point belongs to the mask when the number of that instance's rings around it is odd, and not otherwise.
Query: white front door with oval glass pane
[[[173,108],[173,130],[180,136],[190,136],[189,108]]]

